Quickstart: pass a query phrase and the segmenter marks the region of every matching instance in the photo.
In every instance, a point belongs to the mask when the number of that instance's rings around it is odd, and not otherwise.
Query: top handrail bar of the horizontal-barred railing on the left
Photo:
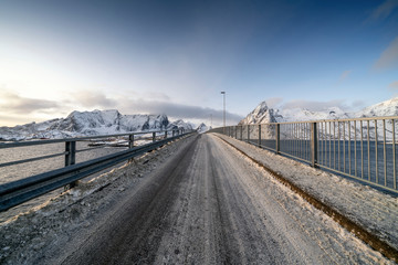
[[[12,147],[23,147],[23,146],[48,145],[48,144],[66,142],[66,141],[82,141],[82,140],[88,140],[88,139],[103,139],[103,138],[109,138],[109,137],[122,137],[122,136],[130,136],[130,135],[146,135],[146,134],[153,134],[153,132],[165,132],[165,131],[174,131],[174,130],[177,130],[177,129],[132,131],[132,132],[126,132],[126,134],[83,136],[83,137],[71,137],[71,138],[62,138],[62,139],[20,140],[20,141],[11,141],[11,142],[0,142],[0,149],[12,148]]]

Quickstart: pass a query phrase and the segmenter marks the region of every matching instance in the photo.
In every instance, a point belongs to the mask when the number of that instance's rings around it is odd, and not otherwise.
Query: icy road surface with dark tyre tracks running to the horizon
[[[24,219],[35,220],[40,233],[23,240],[25,248],[18,248],[17,240],[15,246],[2,243],[3,250],[19,250],[2,262],[394,264],[218,137],[193,136],[174,145],[179,148],[160,150],[166,158],[140,178],[121,169],[129,180],[115,180],[129,188],[106,187],[46,219],[33,214],[13,221],[22,225]],[[104,206],[103,198],[118,200]],[[56,223],[57,214],[65,225]],[[18,225],[9,225],[1,236],[18,232],[12,230]]]

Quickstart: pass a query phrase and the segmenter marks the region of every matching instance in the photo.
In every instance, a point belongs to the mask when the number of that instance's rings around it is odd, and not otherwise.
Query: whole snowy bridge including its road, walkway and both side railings
[[[124,137],[126,150],[85,162],[76,162],[78,145],[72,142],[87,139],[60,140],[65,151],[57,156],[64,157],[66,167],[1,184],[1,205],[7,213],[50,190],[65,184],[74,188],[54,203],[2,224],[0,261],[49,264],[397,262],[395,172],[388,171],[387,166],[380,167],[385,169],[380,174],[385,178],[378,178],[378,165],[389,163],[387,153],[391,148],[395,152],[395,145],[388,149],[388,135],[384,134],[384,140],[376,144],[375,150],[378,153],[379,145],[385,147],[381,149],[385,159],[376,158],[376,166],[370,160],[355,160],[360,157],[358,153],[375,147],[371,142],[378,140],[377,124],[385,124],[381,128],[387,131],[386,120],[392,120],[391,128],[395,128],[395,119],[355,120],[355,126],[354,120],[233,126],[202,135],[154,131],[151,142],[143,146],[134,145],[135,136],[123,135],[115,137]],[[366,142],[364,135],[359,140],[357,123],[376,124],[366,127]],[[342,134],[333,138],[333,128],[342,128]],[[376,138],[369,134],[371,128]],[[343,138],[343,131],[349,138]],[[395,142],[395,132],[391,137]],[[39,145],[30,142],[33,144],[3,145]],[[334,153],[333,146],[337,149]],[[360,152],[352,152],[360,147]],[[1,145],[0,148],[7,149]],[[339,156],[342,159],[334,159]],[[2,162],[2,166],[30,162],[29,159]],[[119,167],[122,161],[129,162]],[[115,165],[119,168],[103,178],[76,182]],[[325,165],[336,166],[325,168]],[[368,169],[369,165],[370,170],[359,170]],[[391,167],[395,170],[395,156]],[[344,169],[342,176],[353,174],[356,181],[331,173],[338,173],[339,169]],[[377,181],[373,177],[376,172]],[[32,223],[35,227],[27,227]],[[40,247],[33,247],[35,245]]]

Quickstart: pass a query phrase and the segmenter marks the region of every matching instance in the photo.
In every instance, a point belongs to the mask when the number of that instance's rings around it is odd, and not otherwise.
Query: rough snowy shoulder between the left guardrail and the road
[[[0,223],[0,264],[43,264],[42,259],[51,259],[69,241],[97,225],[116,202],[123,201],[127,190],[138,189],[146,174],[188,141],[184,138],[165,145]]]

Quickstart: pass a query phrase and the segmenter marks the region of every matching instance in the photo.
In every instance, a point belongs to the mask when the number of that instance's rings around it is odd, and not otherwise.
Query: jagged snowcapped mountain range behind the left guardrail
[[[65,138],[177,128],[193,127],[184,120],[170,123],[166,115],[122,115],[116,109],[73,112],[66,118],[0,127],[0,139]]]

